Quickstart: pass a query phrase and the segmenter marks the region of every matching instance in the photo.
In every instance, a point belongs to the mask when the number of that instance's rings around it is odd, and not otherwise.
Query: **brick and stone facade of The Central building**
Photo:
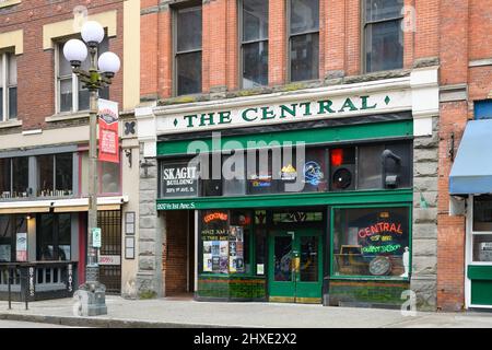
[[[377,2],[377,5],[373,2]],[[313,3],[316,3],[315,5],[318,9],[316,19],[304,19],[304,22],[300,22],[301,24],[294,23],[291,25],[296,21],[295,15],[292,16],[292,13],[304,11],[293,8],[297,3],[301,3],[301,7],[312,7]],[[387,92],[388,98],[386,98],[386,105],[391,105],[394,101],[390,97],[393,96],[391,93],[402,91],[407,93],[407,97],[403,98],[405,101],[399,101],[401,105],[393,109],[387,109],[386,112],[382,110],[382,113],[385,117],[388,116],[388,113],[398,114],[396,118],[406,118],[400,114],[405,110],[410,112],[411,115],[411,130],[407,131],[406,135],[412,135],[413,165],[411,178],[413,186],[409,191],[406,191],[405,196],[408,197],[403,196],[405,199],[403,197],[394,199],[396,203],[405,202],[406,206],[411,207],[411,219],[409,219],[411,220],[410,230],[412,232],[411,278],[376,279],[372,282],[355,282],[350,278],[333,278],[328,270],[338,275],[340,272],[335,271],[338,267],[333,262],[335,260],[330,261],[329,254],[337,255],[340,252],[328,244],[331,233],[325,232],[326,230],[321,229],[325,230],[323,238],[319,238],[325,249],[323,253],[325,275],[323,277],[324,284],[323,288],[319,288],[319,293],[321,293],[323,289],[323,301],[326,304],[376,305],[386,303],[399,305],[401,301],[398,302],[397,300],[401,300],[401,292],[405,289],[411,288],[417,292],[418,304],[421,308],[435,310],[437,305],[436,218],[438,198],[437,154],[440,144],[437,93],[440,1],[406,0],[405,2],[394,1],[394,3],[389,1],[386,5],[393,7],[389,9],[393,15],[389,14],[389,18],[385,18],[385,15],[377,18],[378,14],[368,13],[370,11],[376,11],[374,9],[377,9],[379,5],[378,1],[319,0],[292,2],[270,0],[268,1],[268,9],[263,8],[262,10],[258,10],[260,12],[262,11],[259,18],[268,13],[268,31],[259,30],[255,37],[247,37],[248,33],[245,36],[247,28],[245,30],[244,25],[246,24],[243,21],[247,13],[245,14],[244,11],[249,11],[245,10],[245,5],[253,8],[260,7],[255,1],[141,1],[142,69],[140,93],[142,104],[141,108],[136,112],[136,115],[139,120],[141,156],[147,164],[145,172],[141,171],[140,180],[141,245],[145,245],[147,249],[144,253],[140,252],[138,288],[141,292],[152,291],[157,295],[162,295],[166,293],[167,284],[179,284],[173,279],[173,275],[168,273],[167,268],[164,271],[162,269],[163,266],[168,267],[175,262],[168,254],[173,247],[169,245],[169,241],[166,241],[166,237],[173,236],[174,232],[172,233],[171,231],[176,230],[174,220],[176,220],[176,215],[181,215],[174,212],[173,209],[181,209],[183,212],[188,212],[188,214],[195,217],[195,224],[191,228],[192,232],[188,232],[188,244],[189,242],[194,243],[195,253],[190,253],[189,256],[194,256],[197,259],[194,264],[195,271],[192,276],[189,276],[188,280],[188,282],[190,280],[195,282],[191,283],[195,284],[195,289],[188,288],[181,289],[181,291],[195,292],[195,296],[199,300],[216,298],[223,300],[298,300],[307,302],[321,300],[321,295],[316,293],[316,296],[313,296],[314,294],[309,294],[311,296],[302,296],[298,294],[297,296],[277,295],[273,298],[273,294],[277,293],[271,290],[274,280],[271,281],[273,283],[269,283],[266,280],[270,278],[270,271],[267,270],[274,262],[272,260],[270,265],[268,261],[265,265],[262,262],[259,264],[259,257],[256,250],[250,253],[251,258],[256,259],[255,266],[251,265],[250,267],[253,272],[250,271],[249,275],[246,273],[248,276],[244,278],[237,275],[232,276],[232,272],[229,277],[224,277],[225,273],[204,273],[209,267],[204,267],[207,262],[204,261],[204,256],[202,256],[202,254],[206,254],[203,252],[208,249],[203,247],[209,244],[200,236],[204,225],[202,220],[210,212],[210,209],[224,210],[222,217],[225,218],[229,212],[229,215],[232,218],[236,212],[232,209],[227,211],[230,209],[227,206],[232,206],[231,203],[234,202],[233,208],[261,209],[265,207],[267,208],[266,215],[268,218],[270,215],[271,218],[277,218],[281,213],[276,210],[289,208],[290,206],[294,206],[295,202],[298,205],[297,209],[302,210],[303,206],[309,205],[309,201],[303,202],[301,199],[293,197],[290,203],[285,203],[281,202],[280,198],[282,196],[272,196],[272,198],[268,198],[271,202],[254,202],[254,197],[246,195],[241,198],[233,196],[230,198],[230,203],[226,203],[220,201],[216,194],[215,197],[212,195],[213,198],[209,199],[200,198],[202,195],[198,192],[196,195],[198,198],[196,199],[166,198],[162,192],[162,187],[166,186],[162,183],[163,168],[167,168],[166,166],[168,165],[166,165],[166,162],[185,156],[186,152],[184,149],[177,151],[176,148],[185,144],[186,140],[208,142],[210,130],[219,130],[225,132],[224,135],[236,135],[239,139],[244,133],[250,133],[251,139],[261,139],[261,137],[265,137],[265,132],[273,132],[274,136],[281,137],[281,133],[274,133],[280,132],[274,121],[271,121],[271,128],[267,126],[266,129],[261,129],[257,124],[253,122],[250,128],[243,125],[244,119],[247,117],[244,114],[245,110],[246,113],[251,113],[249,109],[253,108],[255,110],[255,106],[262,106],[260,105],[261,103],[263,105],[276,105],[271,107],[276,109],[285,107],[277,106],[277,103],[282,102],[293,102],[295,104],[295,102],[303,101],[303,98],[321,98],[323,96],[336,98],[336,96],[340,95],[350,100],[350,96],[361,97],[372,95],[377,91],[382,93]],[[195,19],[201,20],[199,31],[201,42],[199,44],[191,43],[195,46],[189,51],[186,51],[179,48],[181,44],[177,40],[176,36],[179,36],[180,31],[183,31],[179,25],[179,21],[181,21],[180,16],[184,13],[194,11],[196,11],[194,15],[197,15]],[[374,31],[377,31],[378,20],[383,22],[396,21],[388,25],[391,26],[397,23],[401,27],[399,43],[401,44],[402,50],[398,51],[396,55],[398,56],[397,58],[395,56],[387,61],[385,59],[377,60],[368,54],[371,50],[366,46],[368,45],[367,31],[373,31],[373,27]],[[195,25],[192,25],[190,32],[192,31],[196,31]],[[304,37],[302,37],[303,35]],[[298,62],[293,62],[295,58],[293,58],[294,54],[290,49],[292,45],[300,45],[296,42],[297,38],[300,40],[307,40],[308,43],[316,43],[317,50],[313,55],[315,57],[313,58],[314,60],[303,66],[305,68],[301,70],[296,66]],[[303,43],[305,45],[305,42]],[[260,56],[263,55],[261,57],[268,55],[268,59],[261,61],[261,67],[258,66],[255,71],[258,74],[258,77],[255,77],[258,78],[258,81],[261,80],[262,83],[255,84],[254,88],[250,86],[250,78],[245,78],[245,74],[249,73],[249,63],[247,62],[248,59],[244,57],[249,58],[251,56],[243,56],[249,48],[248,45],[253,46],[253,44],[258,44],[260,47],[259,52],[263,52],[259,54]],[[374,46],[374,50],[377,50],[376,46]],[[266,47],[268,48],[268,54],[266,54]],[[311,48],[312,46],[307,50]],[[189,72],[183,73],[179,70],[179,60],[183,55],[188,52],[201,55],[201,59],[196,61],[201,65],[201,69],[199,70],[200,77],[197,78],[197,81],[194,81],[195,90],[183,93],[179,78],[183,78]],[[305,51],[301,49],[296,52],[296,55],[303,55],[301,52]],[[370,56],[372,63],[368,62],[367,57]],[[265,67],[268,67],[268,72],[266,72],[267,69]],[[317,69],[313,69],[313,67],[317,67]],[[382,67],[383,69],[380,69]],[[306,71],[309,71],[311,75],[306,75],[307,73],[303,75]],[[304,77],[304,79],[297,79],[296,77]],[[197,89],[196,85],[199,88]],[[395,98],[398,100],[397,97]],[[349,102],[345,100],[345,103]],[[376,105],[376,109],[378,109],[384,103]],[[219,125],[213,125],[218,122],[216,119],[215,121],[210,119],[213,118],[213,113],[219,115],[221,106],[225,110],[232,108],[231,112],[223,112],[222,117],[225,119],[221,119],[221,121],[226,120],[224,122],[229,124],[229,113],[231,113],[231,126],[223,126],[221,128]],[[363,104],[362,109],[364,106],[367,105]],[[250,108],[248,109],[247,107]],[[261,108],[263,110],[263,119],[271,116],[269,113],[274,113],[268,109],[268,107]],[[343,107],[340,112],[344,112]],[[187,113],[194,116],[190,117]],[[241,118],[242,113],[243,124],[234,119],[236,114],[239,115],[237,118]],[[379,115],[377,110],[374,114]],[[362,115],[367,116],[366,121],[374,121],[375,119],[373,118],[377,118],[375,116],[373,117],[370,113],[363,113]],[[354,112],[353,116],[356,118],[358,113]],[[187,127],[181,125],[181,119],[188,121]],[[255,119],[255,117],[250,119]],[[343,120],[347,120],[349,125],[352,121],[358,122],[355,119],[350,118],[344,118]],[[233,126],[236,121],[238,122],[237,129]],[[330,121],[327,122],[329,124]],[[301,129],[304,128],[303,122],[294,125],[300,126]],[[289,130],[291,127],[295,128],[293,124],[289,122],[285,122],[285,130]],[[190,128],[194,128],[194,130]],[[338,142],[341,141],[339,144],[354,142],[349,140],[355,137],[355,133],[349,133],[350,136],[348,136],[347,140],[338,139]],[[306,133],[304,140],[309,142],[312,137],[314,136]],[[400,139],[400,136],[395,137],[396,139]],[[289,139],[290,136],[285,135],[285,138]],[[373,137],[374,142],[384,139],[385,137],[383,136],[377,137],[374,135]],[[319,142],[329,142],[329,139],[321,138]],[[379,162],[378,158],[374,158],[373,160]],[[283,165],[286,166],[288,164]],[[223,186],[226,186],[226,184],[223,183]],[[386,195],[389,196],[390,192],[384,192],[384,196]],[[207,197],[207,195],[203,196]],[[227,195],[222,192],[222,196]],[[354,196],[358,196],[358,194],[355,192]],[[330,200],[328,198],[321,199],[321,197],[320,195],[319,201],[312,201],[311,205],[321,207],[324,205],[330,206]],[[389,197],[385,198],[389,202],[393,200]],[[243,200],[245,201],[243,202]],[[236,201],[241,203],[236,203]],[[365,201],[365,203],[374,203],[377,207],[385,201],[385,199],[373,198]],[[353,202],[362,203],[364,200],[359,198],[354,199]],[[333,199],[331,201],[331,205],[336,206],[337,203],[341,206],[347,205],[342,199]],[[332,207],[323,207],[321,209],[326,213],[330,210],[333,210],[331,212],[332,214],[337,214],[338,212],[338,209]],[[246,211],[242,215],[249,218],[248,213],[249,211]],[[256,214],[258,212],[251,213],[251,215]],[[311,212],[307,213],[308,217],[311,214]],[[382,212],[379,214],[384,213]],[[324,220],[328,220],[326,217],[324,218]],[[246,221],[249,219],[246,219]],[[232,224],[231,222],[229,221],[229,224]],[[255,231],[257,226],[245,230]],[[271,228],[268,230],[271,230]],[[163,244],[165,246],[164,262],[162,262],[163,249],[159,248]],[[271,245],[268,246],[272,248]],[[403,247],[401,246],[401,248]],[[183,246],[175,246],[174,249],[183,250]],[[318,253],[321,254],[320,252]],[[266,259],[268,260],[269,258],[267,257]],[[214,267],[212,267],[213,269]],[[184,285],[183,282],[180,283]],[[365,290],[365,292],[361,294],[362,290]]]

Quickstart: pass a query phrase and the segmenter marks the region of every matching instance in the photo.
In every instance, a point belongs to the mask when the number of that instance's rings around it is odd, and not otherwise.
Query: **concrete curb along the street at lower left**
[[[224,326],[210,324],[185,324],[173,322],[149,322],[121,318],[95,318],[73,316],[45,316],[45,315],[21,315],[0,314],[2,320],[31,322],[39,324],[51,324],[70,327],[94,327],[94,328],[242,328],[241,326]]]

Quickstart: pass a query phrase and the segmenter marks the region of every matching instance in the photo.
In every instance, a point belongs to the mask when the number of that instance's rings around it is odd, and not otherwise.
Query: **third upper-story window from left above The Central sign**
[[[319,77],[319,1],[290,0],[290,80]]]

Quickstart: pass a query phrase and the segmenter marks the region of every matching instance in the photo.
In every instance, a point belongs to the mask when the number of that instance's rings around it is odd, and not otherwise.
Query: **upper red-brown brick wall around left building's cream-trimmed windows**
[[[109,39],[109,49],[122,60],[122,1],[91,0],[82,3],[89,14],[118,10],[117,36]],[[0,9],[0,33],[24,30],[24,54],[17,57],[17,118],[24,130],[45,128],[45,118],[55,114],[54,50],[43,49],[43,26],[73,18],[81,1],[47,4],[43,0],[22,1]],[[125,67],[122,66],[122,69]],[[110,98],[121,104],[122,69],[110,86]]]

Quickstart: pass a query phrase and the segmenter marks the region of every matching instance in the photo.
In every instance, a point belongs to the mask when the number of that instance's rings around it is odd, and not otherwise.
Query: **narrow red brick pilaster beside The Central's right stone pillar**
[[[441,1],[441,84],[467,83],[468,0]],[[465,304],[465,218],[449,217],[448,177],[452,161],[449,140],[457,143],[467,120],[467,102],[441,104],[438,218],[437,218],[437,307],[458,311]]]

